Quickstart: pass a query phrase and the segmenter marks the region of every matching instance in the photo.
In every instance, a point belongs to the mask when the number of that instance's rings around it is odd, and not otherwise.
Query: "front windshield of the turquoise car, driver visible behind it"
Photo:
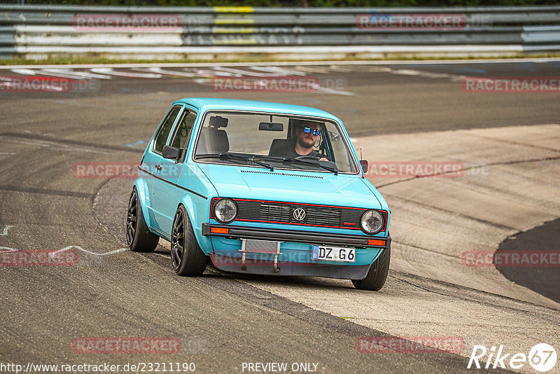
[[[339,125],[327,119],[212,111],[196,144],[197,162],[358,172]]]

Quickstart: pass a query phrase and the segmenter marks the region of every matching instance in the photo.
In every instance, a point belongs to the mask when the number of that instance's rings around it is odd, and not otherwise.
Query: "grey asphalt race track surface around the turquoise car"
[[[0,266],[1,363],[23,369],[29,363],[195,363],[196,373],[264,373],[244,363],[287,363],[287,372],[298,373],[472,373],[484,371],[467,368],[475,345],[528,354],[544,342],[560,352],[557,266],[461,263],[467,249],[560,251],[560,91],[470,92],[464,85],[473,76],[558,79],[560,61],[257,68],[0,69],[10,79],[82,82],[60,92],[0,90],[1,255],[50,250],[78,256],[73,266]],[[320,88],[220,90],[212,81],[279,72],[315,79]],[[371,176],[392,209],[395,240],[387,284],[377,293],[353,289],[349,281],[211,268],[203,277],[178,277],[164,241],[153,254],[125,248],[134,179],[84,178],[73,167],[138,162],[181,97],[315,106],[342,118],[368,160],[462,160],[465,174],[473,173],[461,179]],[[360,352],[360,337],[391,336],[450,338],[463,346]],[[80,339],[130,337],[172,338],[181,349],[76,349]],[[488,371],[537,373],[528,363]],[[560,373],[560,363],[548,373]]]

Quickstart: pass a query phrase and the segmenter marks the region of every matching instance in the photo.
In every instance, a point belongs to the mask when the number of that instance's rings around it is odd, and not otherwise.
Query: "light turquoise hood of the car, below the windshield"
[[[381,203],[356,175],[230,165],[199,165],[218,195],[229,198],[306,202],[381,209]]]

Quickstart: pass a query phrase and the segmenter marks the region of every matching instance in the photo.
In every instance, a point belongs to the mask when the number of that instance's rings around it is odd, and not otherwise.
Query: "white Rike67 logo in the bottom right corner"
[[[486,357],[486,354],[488,356]],[[484,368],[486,369],[495,369],[498,368],[509,368],[512,369],[521,369],[523,368],[526,363],[529,363],[533,367],[533,369],[545,372],[556,365],[556,350],[552,345],[548,345],[546,343],[539,343],[534,345],[531,350],[529,350],[528,355],[524,353],[506,353],[503,345],[500,345],[496,350],[496,347],[492,346],[490,349],[484,347],[484,345],[475,345],[472,348],[472,352],[470,354],[470,359],[468,360],[467,368]],[[480,361],[486,361],[486,365],[480,363]],[[474,365],[473,365],[474,364]]]

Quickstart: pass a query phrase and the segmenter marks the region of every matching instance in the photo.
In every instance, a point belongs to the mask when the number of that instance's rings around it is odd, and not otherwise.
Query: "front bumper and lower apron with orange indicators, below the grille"
[[[214,230],[212,230],[213,228]],[[228,229],[227,233],[225,229]],[[216,268],[228,272],[264,275],[363,279],[381,251],[391,246],[391,237],[314,233],[304,230],[278,230],[209,223],[202,224],[202,235],[211,238],[214,252],[210,254],[210,259]],[[280,253],[276,256],[275,254],[252,252],[241,254],[241,239],[281,242]],[[379,240],[384,245],[371,245],[368,244],[368,240]],[[356,248],[356,262],[314,260],[311,258],[311,247],[314,244]]]

